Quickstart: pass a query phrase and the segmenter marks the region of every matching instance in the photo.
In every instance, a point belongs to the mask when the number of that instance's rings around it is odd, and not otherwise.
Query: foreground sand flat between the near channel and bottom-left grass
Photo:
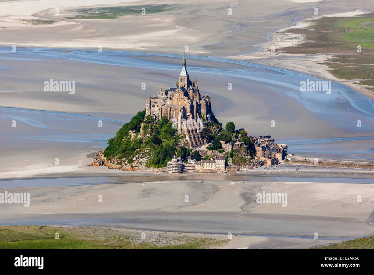
[[[30,206],[6,204],[0,225],[104,226],[261,237],[237,247],[307,248],[373,235],[371,184],[178,180],[85,186],[23,187]],[[288,204],[257,204],[256,194],[287,193]],[[98,202],[98,196],[103,198]],[[185,196],[188,195],[188,202]],[[362,202],[357,202],[362,195]],[[314,239],[315,232],[319,240]],[[252,239],[255,240],[255,239]],[[257,239],[258,241],[259,239]],[[321,243],[321,241],[323,243]]]

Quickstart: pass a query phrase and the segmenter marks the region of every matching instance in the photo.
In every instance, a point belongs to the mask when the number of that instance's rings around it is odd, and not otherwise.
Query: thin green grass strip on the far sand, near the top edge
[[[177,5],[139,5],[139,6],[116,6],[116,7],[97,7],[71,9],[68,12],[77,13],[75,16],[67,17],[67,19],[115,19],[125,15],[141,16],[142,9],[145,9],[145,15],[165,12],[166,10],[176,9]]]

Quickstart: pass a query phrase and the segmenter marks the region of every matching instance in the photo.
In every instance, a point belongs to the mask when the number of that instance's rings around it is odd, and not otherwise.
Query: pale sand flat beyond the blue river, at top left
[[[142,6],[153,1],[58,0],[0,1],[0,45],[32,47],[95,48],[180,53],[186,43],[191,54],[230,55],[256,50],[258,42],[315,5],[289,0],[157,1],[177,4],[176,10],[131,15],[116,19],[69,19],[77,7]],[[302,8],[300,8],[303,6]],[[314,7],[314,6],[313,6]],[[58,16],[55,9],[59,8]],[[232,14],[228,14],[228,9]],[[289,11],[291,9],[291,11]],[[292,11],[295,9],[295,11]],[[341,8],[338,8],[339,10]],[[52,25],[27,25],[22,19],[57,21]],[[171,41],[173,41],[171,43]]]

